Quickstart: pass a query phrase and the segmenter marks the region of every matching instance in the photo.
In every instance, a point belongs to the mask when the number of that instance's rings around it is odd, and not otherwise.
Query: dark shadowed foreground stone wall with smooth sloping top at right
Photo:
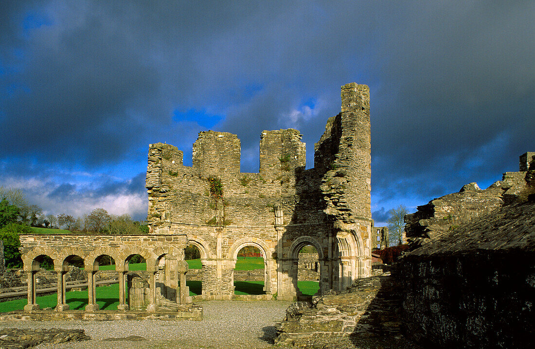
[[[407,334],[426,346],[535,344],[535,203],[498,208],[399,263]]]

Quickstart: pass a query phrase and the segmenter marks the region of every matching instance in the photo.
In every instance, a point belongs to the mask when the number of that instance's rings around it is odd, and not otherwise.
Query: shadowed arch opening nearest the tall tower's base
[[[298,253],[297,291],[302,296],[314,296],[319,291],[320,262],[318,250],[312,245],[304,245]]]

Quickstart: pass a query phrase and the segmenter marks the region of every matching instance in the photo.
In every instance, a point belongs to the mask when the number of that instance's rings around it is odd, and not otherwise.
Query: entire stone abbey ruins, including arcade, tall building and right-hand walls
[[[414,347],[410,340],[423,347],[533,347],[535,152],[487,189],[469,183],[418,206],[405,216],[411,251],[394,266],[372,268],[372,246],[384,247],[388,230],[371,219],[368,87],[346,84],[341,99],[341,112],[315,144],[314,168],[305,169],[305,144],[294,129],[262,132],[258,173],[240,172],[236,135],[201,132],[190,167],[175,146],[150,145],[149,234],[21,235],[28,319],[202,320],[193,301],[238,298],[238,253],[254,246],[265,263],[265,294],[256,300],[303,299],[300,268],[319,279],[318,297],[288,308],[276,344],[368,347],[373,337],[380,338],[373,347],[385,348]],[[202,262],[195,297],[184,260],[192,244]],[[300,261],[305,245],[317,257]],[[135,254],[147,271],[133,278],[128,261]],[[39,315],[36,273],[45,255],[57,273],[58,306]],[[100,312],[95,299],[99,261],[107,255],[120,285],[116,312]],[[78,313],[65,299],[75,257],[88,281],[88,305]],[[20,315],[0,320],[13,316]]]

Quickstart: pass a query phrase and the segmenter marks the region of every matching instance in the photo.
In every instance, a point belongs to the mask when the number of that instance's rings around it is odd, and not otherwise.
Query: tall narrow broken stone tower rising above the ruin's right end
[[[369,88],[346,84],[341,98],[342,112],[329,119],[315,146],[315,167],[326,171],[322,186],[326,213],[348,223],[371,220]]]

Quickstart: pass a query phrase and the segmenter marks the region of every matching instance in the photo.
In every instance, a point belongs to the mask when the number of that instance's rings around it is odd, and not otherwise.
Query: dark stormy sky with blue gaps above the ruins
[[[490,184],[535,149],[533,2],[0,6],[0,161],[65,177],[136,164],[99,179],[93,199],[141,195],[149,143],[178,146],[190,164],[201,124],[238,134],[244,171],[258,170],[262,130],[299,129],[310,167],[351,81],[370,86],[380,205]],[[67,196],[77,183],[33,176]]]

